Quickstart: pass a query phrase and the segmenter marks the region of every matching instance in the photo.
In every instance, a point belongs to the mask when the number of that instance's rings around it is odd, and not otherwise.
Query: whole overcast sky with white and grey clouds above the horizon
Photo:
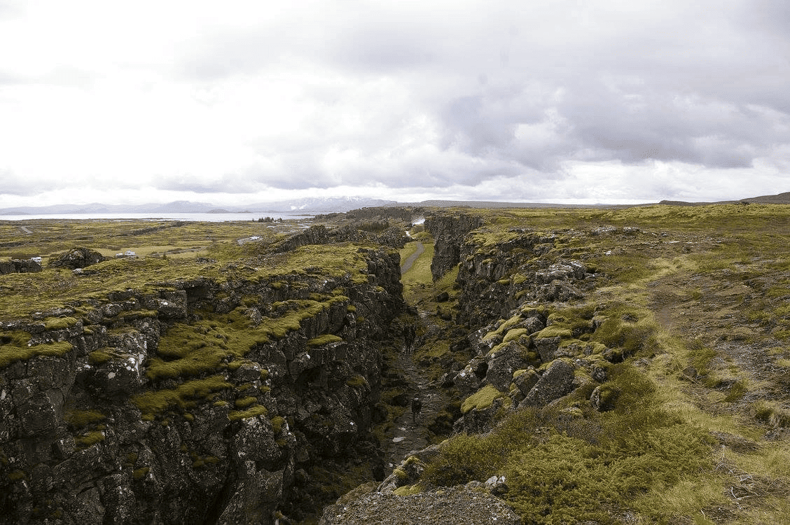
[[[0,208],[790,191],[787,0],[0,0]]]

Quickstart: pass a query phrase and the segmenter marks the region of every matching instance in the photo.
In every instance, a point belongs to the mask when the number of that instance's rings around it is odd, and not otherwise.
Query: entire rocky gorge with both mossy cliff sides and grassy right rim
[[[784,208],[319,219],[4,315],[0,523],[782,523]]]

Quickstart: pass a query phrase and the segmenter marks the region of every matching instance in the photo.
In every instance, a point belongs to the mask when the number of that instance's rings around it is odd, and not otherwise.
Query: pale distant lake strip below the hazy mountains
[[[331,213],[331,212],[322,212]],[[205,223],[222,223],[224,221],[253,221],[262,217],[272,219],[311,219],[316,213],[305,212],[255,212],[255,213],[51,213],[30,215],[0,215],[2,220],[40,220],[40,219],[70,219],[70,220],[184,220]]]

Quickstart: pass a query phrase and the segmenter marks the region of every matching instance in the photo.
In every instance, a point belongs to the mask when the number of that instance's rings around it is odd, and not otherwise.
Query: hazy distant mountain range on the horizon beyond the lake
[[[94,214],[94,213],[240,213],[240,212],[348,212],[396,204],[395,201],[362,197],[311,197],[292,201],[257,202],[234,206],[217,206],[209,202],[173,201],[166,204],[53,204],[2,208],[2,215]]]

